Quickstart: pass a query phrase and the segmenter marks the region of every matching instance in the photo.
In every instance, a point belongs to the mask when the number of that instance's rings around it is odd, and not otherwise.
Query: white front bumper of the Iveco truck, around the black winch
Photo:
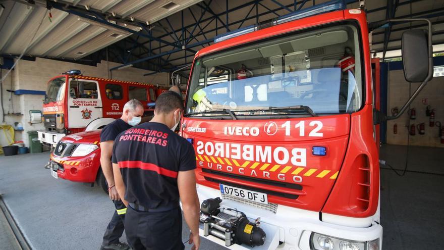
[[[203,185],[198,185],[197,193],[199,201],[208,198],[220,197],[220,191]],[[310,250],[310,236],[312,232],[329,235],[331,237],[348,239],[353,241],[370,241],[379,239],[379,249],[382,245],[382,227],[376,223],[370,227],[346,227],[336,224],[325,223],[319,220],[319,213],[296,209],[287,206],[278,206],[276,213],[255,208],[253,206],[224,199],[221,207],[234,208],[244,212],[247,217],[254,220],[260,217],[261,228],[266,233],[265,244],[262,246],[249,247],[234,244],[229,249],[299,249]],[[200,230],[203,236],[203,230]],[[217,244],[225,246],[225,241],[213,236],[205,237]],[[280,242],[282,242],[280,244]]]

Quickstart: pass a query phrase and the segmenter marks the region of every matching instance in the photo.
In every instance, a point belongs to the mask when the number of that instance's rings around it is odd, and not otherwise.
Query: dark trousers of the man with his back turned
[[[128,243],[134,250],[183,250],[180,208],[141,212],[128,207],[125,216]]]

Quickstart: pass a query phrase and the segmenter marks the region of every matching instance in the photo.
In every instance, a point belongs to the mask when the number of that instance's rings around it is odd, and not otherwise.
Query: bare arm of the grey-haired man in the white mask
[[[116,183],[114,182],[113,166],[111,164],[111,157],[113,155],[113,145],[114,141],[102,141],[100,142],[100,166],[102,168],[103,175],[105,176],[109,189],[108,194],[110,199],[118,200],[119,194],[117,193],[116,187],[113,187]]]

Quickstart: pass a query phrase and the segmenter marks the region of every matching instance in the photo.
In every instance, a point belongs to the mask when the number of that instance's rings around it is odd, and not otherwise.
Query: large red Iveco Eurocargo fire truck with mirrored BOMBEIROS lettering
[[[432,78],[431,23],[367,23],[330,1],[215,38],[197,52],[181,135],[193,144],[200,233],[230,249],[381,249],[379,126]],[[369,32],[408,30],[399,114],[379,109]]]

